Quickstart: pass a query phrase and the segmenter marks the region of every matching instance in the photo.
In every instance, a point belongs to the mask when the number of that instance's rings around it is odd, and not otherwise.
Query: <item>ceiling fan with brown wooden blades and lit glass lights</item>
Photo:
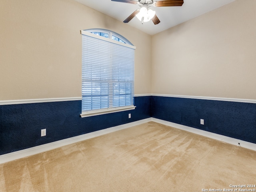
[[[170,7],[170,6],[182,6],[183,0],[111,0],[116,2],[122,2],[122,3],[131,3],[131,4],[137,4],[140,6],[140,9],[137,9],[134,11],[126,20],[124,20],[124,23],[128,23],[132,18],[135,16],[142,22],[148,22],[152,20],[152,22],[156,25],[160,23],[160,20],[156,16],[156,12],[150,9],[151,6],[154,7]]]

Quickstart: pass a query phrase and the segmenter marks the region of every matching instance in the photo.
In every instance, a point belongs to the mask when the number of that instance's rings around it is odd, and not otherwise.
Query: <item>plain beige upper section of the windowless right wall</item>
[[[152,36],[152,93],[256,99],[256,0]]]

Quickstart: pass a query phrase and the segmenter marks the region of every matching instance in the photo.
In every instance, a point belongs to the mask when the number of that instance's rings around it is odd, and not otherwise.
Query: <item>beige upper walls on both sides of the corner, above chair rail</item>
[[[1,0],[0,100],[80,97],[88,28],[136,46],[135,94],[256,99],[255,10],[236,0],[151,37],[73,0]]]

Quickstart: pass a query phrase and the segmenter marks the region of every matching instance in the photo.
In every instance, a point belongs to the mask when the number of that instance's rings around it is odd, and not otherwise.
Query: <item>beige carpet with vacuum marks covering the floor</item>
[[[0,164],[1,192],[200,192],[242,184],[256,184],[256,151],[155,122]]]

